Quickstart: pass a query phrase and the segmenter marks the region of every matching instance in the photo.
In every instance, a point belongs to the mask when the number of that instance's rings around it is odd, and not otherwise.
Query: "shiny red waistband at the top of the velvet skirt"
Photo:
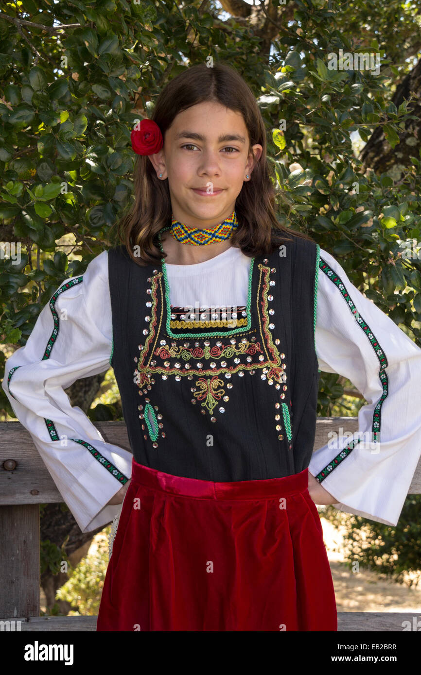
[[[196,478],[173,476],[132,460],[132,482],[185,497],[204,499],[262,499],[285,497],[308,489],[308,470],[282,478],[258,481],[201,481]]]

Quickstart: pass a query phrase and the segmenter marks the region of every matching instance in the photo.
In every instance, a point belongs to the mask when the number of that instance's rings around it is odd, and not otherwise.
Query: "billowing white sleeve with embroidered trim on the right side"
[[[315,346],[319,369],[366,400],[358,431],[313,452],[309,472],[341,511],[396,525],[421,454],[421,349],[320,249]]]

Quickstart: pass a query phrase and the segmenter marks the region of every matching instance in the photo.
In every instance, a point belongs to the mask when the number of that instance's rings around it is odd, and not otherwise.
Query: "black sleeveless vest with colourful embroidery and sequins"
[[[231,321],[180,321],[165,265],[141,267],[124,246],[108,251],[110,363],[139,464],[207,481],[307,468],[319,379],[319,250],[293,237],[251,259],[247,307]]]

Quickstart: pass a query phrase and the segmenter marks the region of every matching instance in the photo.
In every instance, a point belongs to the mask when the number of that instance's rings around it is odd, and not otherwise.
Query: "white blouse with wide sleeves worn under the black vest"
[[[320,257],[341,277],[348,298],[331,274],[318,271],[319,369],[347,377],[367,404],[358,414],[360,441],[352,452],[332,468],[330,462],[340,456],[349,438],[339,437],[336,444],[328,441],[313,453],[309,472],[316,476],[330,465],[332,470],[321,484],[338,500],[336,508],[395,525],[421,454],[421,349],[351,284],[332,255],[320,249]],[[203,263],[167,264],[170,303],[195,306],[199,297],[201,307],[247,305],[250,262],[240,249],[231,247]],[[72,279],[80,277],[66,279],[59,288]],[[3,389],[80,529],[89,532],[118,516],[121,504],[105,504],[122,485],[72,439],[92,441],[127,477],[132,454],[106,443],[86,414],[70,406],[64,392],[76,379],[107,371],[112,354],[107,251],[89,263],[82,281],[55,301],[59,331],[49,358],[43,360],[54,318],[47,303],[26,345],[7,359]],[[356,312],[350,311],[350,303]],[[372,333],[362,329],[364,322]],[[381,404],[380,441],[370,445],[373,415],[385,386],[384,376],[380,379],[381,350],[387,357],[387,396]],[[8,387],[9,373],[16,367]],[[46,419],[54,421],[60,441],[51,439]]]

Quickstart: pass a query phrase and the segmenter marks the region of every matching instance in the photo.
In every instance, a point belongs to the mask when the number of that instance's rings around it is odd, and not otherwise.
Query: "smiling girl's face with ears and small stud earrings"
[[[252,149],[257,161],[263,148]],[[195,227],[212,227],[231,215],[254,163],[243,115],[209,101],[178,113],[162,150],[149,159],[160,180],[168,178],[174,217]]]

